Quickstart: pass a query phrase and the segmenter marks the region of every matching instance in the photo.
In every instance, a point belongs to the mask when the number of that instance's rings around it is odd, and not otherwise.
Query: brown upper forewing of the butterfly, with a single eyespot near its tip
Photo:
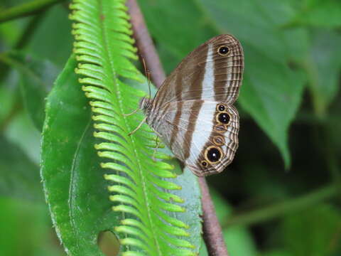
[[[242,83],[242,46],[231,35],[220,35],[193,50],[163,82],[154,109],[168,102],[212,100],[232,104]]]

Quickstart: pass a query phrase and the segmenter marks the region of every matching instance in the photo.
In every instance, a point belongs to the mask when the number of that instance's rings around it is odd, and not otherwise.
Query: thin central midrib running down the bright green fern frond
[[[98,0],[99,1],[99,11],[101,14],[104,14],[104,11],[103,11],[103,8],[102,8],[102,1],[103,0]],[[105,1],[105,0],[104,0]],[[111,54],[111,51],[109,50],[109,47],[108,47],[108,41],[107,41],[107,31],[105,29],[105,26],[104,26],[104,19],[102,19],[101,17],[99,17],[99,23],[100,23],[100,26],[102,27],[102,36],[103,36],[103,44],[104,44],[104,49],[105,51],[108,53],[108,57],[109,57],[109,60],[112,60],[112,54]],[[112,72],[112,78],[113,79],[116,79],[117,78],[117,73],[115,72],[115,69],[112,65],[112,62],[109,61],[109,65],[110,65],[110,71]],[[118,105],[119,105],[119,109],[121,110],[121,117],[123,117],[124,119],[124,124],[126,126],[126,130],[130,130],[131,127],[129,126],[129,123],[127,121],[127,117],[124,116],[124,113],[123,113],[123,105],[122,105],[122,96],[121,96],[121,90],[119,90],[119,86],[117,85],[117,82],[114,82],[113,81],[113,85],[116,87],[116,92],[117,92],[117,102],[118,102]],[[112,93],[113,97],[115,96],[114,93]],[[148,193],[147,193],[147,188],[146,188],[146,177],[144,176],[144,172],[143,170],[141,169],[141,162],[139,161],[139,157],[140,155],[138,154],[138,152],[136,151],[136,142],[134,140],[134,134],[131,135],[131,143],[134,145],[133,146],[133,151],[134,151],[134,154],[136,156],[136,162],[137,162],[137,165],[136,167],[138,168],[139,170],[139,174],[140,174],[140,177],[141,177],[141,180],[142,180],[142,190],[143,190],[143,193],[144,193],[144,201],[145,201],[145,205],[146,205],[146,211],[147,211],[147,214],[148,214],[148,223],[150,224],[151,226],[151,230],[152,230],[152,233],[153,233],[153,241],[154,241],[154,244],[156,245],[156,249],[158,250],[158,255],[162,255],[161,254],[161,248],[160,248],[160,245],[158,244],[158,240],[156,239],[156,233],[155,233],[155,224],[153,223],[153,218],[151,216],[151,210],[149,208],[149,197],[148,197]]]

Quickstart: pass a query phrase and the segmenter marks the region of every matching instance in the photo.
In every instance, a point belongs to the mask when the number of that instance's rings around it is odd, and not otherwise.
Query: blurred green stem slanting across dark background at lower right
[[[273,206],[268,206],[259,210],[253,210],[250,213],[232,216],[223,223],[222,227],[228,228],[232,225],[253,225],[278,218],[288,213],[315,206],[317,203],[336,196],[337,192],[338,190],[335,184],[325,186],[324,188],[320,188],[317,191],[313,191],[298,198],[289,199],[288,201],[276,203]]]

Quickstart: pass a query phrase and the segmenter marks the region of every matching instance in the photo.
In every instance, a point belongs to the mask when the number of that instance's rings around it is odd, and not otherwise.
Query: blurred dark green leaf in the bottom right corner
[[[327,256],[340,252],[340,218],[340,210],[329,204],[286,216],[281,230],[287,251],[293,256]]]

